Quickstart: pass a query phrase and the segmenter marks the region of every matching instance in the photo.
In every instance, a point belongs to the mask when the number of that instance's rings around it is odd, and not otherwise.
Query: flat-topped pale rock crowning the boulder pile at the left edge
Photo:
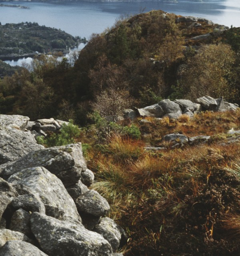
[[[19,128],[20,130],[25,130],[30,120],[27,116],[19,115],[0,115],[0,126],[9,126],[12,128]]]

